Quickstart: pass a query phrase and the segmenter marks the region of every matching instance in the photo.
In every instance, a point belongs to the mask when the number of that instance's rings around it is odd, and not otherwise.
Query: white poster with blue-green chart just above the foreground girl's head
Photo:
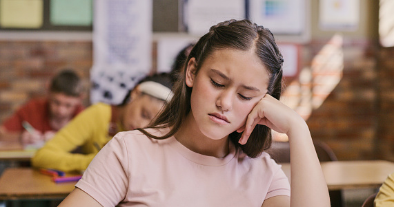
[[[249,0],[249,19],[273,34],[298,35],[306,30],[306,0]]]

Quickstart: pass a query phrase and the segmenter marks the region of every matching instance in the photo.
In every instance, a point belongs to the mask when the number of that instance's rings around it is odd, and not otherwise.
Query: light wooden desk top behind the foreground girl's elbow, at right
[[[394,173],[394,162],[384,160],[322,162],[328,190],[379,188]],[[282,163],[290,181],[290,163]]]

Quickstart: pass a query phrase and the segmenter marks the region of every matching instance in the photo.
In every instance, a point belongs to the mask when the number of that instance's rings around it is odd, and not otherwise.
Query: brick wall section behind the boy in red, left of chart
[[[45,96],[46,84],[63,68],[75,69],[88,89],[91,66],[91,42],[0,41],[0,121],[29,98]]]

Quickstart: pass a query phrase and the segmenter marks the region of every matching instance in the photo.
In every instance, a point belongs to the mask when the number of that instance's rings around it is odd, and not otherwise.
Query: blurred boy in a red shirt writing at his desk
[[[83,110],[83,85],[75,72],[65,69],[52,78],[48,95],[35,98],[17,109],[0,126],[3,140],[40,144],[55,135]]]

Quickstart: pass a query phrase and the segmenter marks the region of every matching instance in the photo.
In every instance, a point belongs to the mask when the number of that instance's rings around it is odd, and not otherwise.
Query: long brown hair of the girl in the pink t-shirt
[[[270,30],[248,20],[230,20],[212,26],[209,32],[202,36],[195,44],[186,63],[190,61],[190,58],[195,58],[196,74],[198,74],[206,58],[216,50],[231,49],[248,51],[251,48],[255,48],[255,54],[270,74],[267,94],[279,99],[283,84],[282,54],[279,52],[279,48]],[[173,99],[147,127],[155,129],[170,127],[170,131],[163,136],[157,137],[144,129],[139,129],[139,131],[148,137],[166,139],[173,136],[189,113],[192,88],[188,87],[185,82],[186,67],[187,64],[185,64],[184,75],[175,83]],[[237,133],[237,131],[230,133],[229,138],[235,146],[240,147],[249,157],[259,156],[264,150],[270,148],[272,142],[270,129],[259,124],[253,129],[248,142],[244,145],[238,143],[241,133]]]

